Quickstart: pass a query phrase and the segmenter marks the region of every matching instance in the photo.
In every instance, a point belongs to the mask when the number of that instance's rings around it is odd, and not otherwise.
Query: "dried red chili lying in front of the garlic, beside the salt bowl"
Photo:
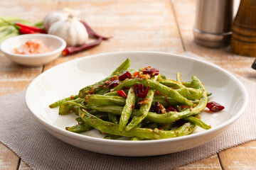
[[[65,47],[65,49],[62,52],[62,55],[63,56],[72,55],[72,54],[74,54],[76,52],[81,52],[81,51],[90,49],[92,47],[100,45],[100,42],[102,42],[102,38],[98,38],[97,40],[95,40],[95,42],[90,42],[90,43],[83,44],[83,45],[80,45],[80,46]]]

